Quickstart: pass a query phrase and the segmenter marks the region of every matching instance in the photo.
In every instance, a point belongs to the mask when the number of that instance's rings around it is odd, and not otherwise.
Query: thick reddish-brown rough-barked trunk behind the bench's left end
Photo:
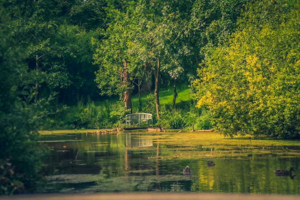
[[[124,91],[123,101],[125,103],[125,109],[130,109],[130,113],[132,113],[132,101],[131,101],[131,80],[130,74],[127,70],[127,62],[124,63],[124,72],[123,72],[123,81],[124,84],[127,86],[126,91]]]

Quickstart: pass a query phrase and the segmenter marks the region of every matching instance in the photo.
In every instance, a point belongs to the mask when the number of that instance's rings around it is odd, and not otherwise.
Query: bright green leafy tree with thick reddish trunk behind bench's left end
[[[112,19],[94,54],[94,64],[99,65],[95,81],[101,94],[118,94],[125,103],[125,109],[132,112],[131,71],[135,66],[131,60],[128,44],[131,41],[130,15],[117,9],[110,9]]]

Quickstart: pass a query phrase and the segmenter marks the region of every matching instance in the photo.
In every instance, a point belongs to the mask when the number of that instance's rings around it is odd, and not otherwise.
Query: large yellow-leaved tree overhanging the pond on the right
[[[206,58],[193,82],[224,135],[300,138],[300,24],[294,1],[246,7],[240,31]]]

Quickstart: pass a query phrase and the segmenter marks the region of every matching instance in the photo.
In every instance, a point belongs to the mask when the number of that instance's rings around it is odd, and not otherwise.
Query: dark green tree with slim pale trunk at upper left
[[[35,87],[34,101],[37,102],[39,96],[47,97],[53,86],[69,85],[69,74],[60,59],[62,46],[55,41],[61,4],[58,1],[28,0],[10,1],[2,6],[6,13],[10,13],[3,22],[10,27],[11,44],[22,49],[30,47],[29,51],[24,51],[24,63],[29,68],[28,73],[23,74],[22,86],[27,89]]]

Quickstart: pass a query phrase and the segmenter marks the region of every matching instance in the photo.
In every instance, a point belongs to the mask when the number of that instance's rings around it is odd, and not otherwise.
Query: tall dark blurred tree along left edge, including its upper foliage
[[[1,26],[1,28],[5,28]],[[3,30],[3,29],[2,29]],[[30,193],[43,178],[44,153],[38,130],[46,122],[48,100],[38,100],[34,91],[19,89],[27,71],[25,52],[0,43],[0,194]]]

